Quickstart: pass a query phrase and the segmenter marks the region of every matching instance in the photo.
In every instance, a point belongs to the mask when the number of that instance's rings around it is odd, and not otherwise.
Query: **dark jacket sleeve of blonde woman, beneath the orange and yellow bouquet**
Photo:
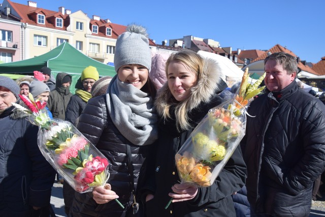
[[[246,173],[246,165],[238,146],[212,186],[199,188],[197,196],[189,204],[201,206],[231,196],[245,185]]]

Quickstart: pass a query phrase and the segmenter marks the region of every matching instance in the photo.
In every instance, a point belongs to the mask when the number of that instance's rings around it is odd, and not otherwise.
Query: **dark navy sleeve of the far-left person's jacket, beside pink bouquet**
[[[32,164],[29,205],[44,207],[50,204],[51,188],[56,173],[53,167],[43,157],[37,145],[37,133],[38,127],[28,122],[25,131],[25,145]]]

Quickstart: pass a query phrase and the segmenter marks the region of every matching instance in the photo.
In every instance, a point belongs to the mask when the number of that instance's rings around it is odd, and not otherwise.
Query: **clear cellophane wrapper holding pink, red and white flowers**
[[[38,126],[41,153],[73,189],[85,193],[105,185],[109,178],[107,158],[73,124],[53,118]]]

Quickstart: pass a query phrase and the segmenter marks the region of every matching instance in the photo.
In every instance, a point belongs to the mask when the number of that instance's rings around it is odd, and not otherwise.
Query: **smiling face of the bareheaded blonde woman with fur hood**
[[[168,65],[168,87],[177,101],[182,101],[190,94],[190,88],[196,84],[196,74],[182,62],[172,61]]]

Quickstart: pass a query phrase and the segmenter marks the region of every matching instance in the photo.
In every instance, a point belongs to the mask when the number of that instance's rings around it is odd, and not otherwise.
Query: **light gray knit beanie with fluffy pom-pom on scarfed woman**
[[[114,53],[114,67],[117,72],[122,65],[140,64],[149,71],[151,67],[151,52],[148,34],[144,27],[129,25],[126,32],[119,35]]]

